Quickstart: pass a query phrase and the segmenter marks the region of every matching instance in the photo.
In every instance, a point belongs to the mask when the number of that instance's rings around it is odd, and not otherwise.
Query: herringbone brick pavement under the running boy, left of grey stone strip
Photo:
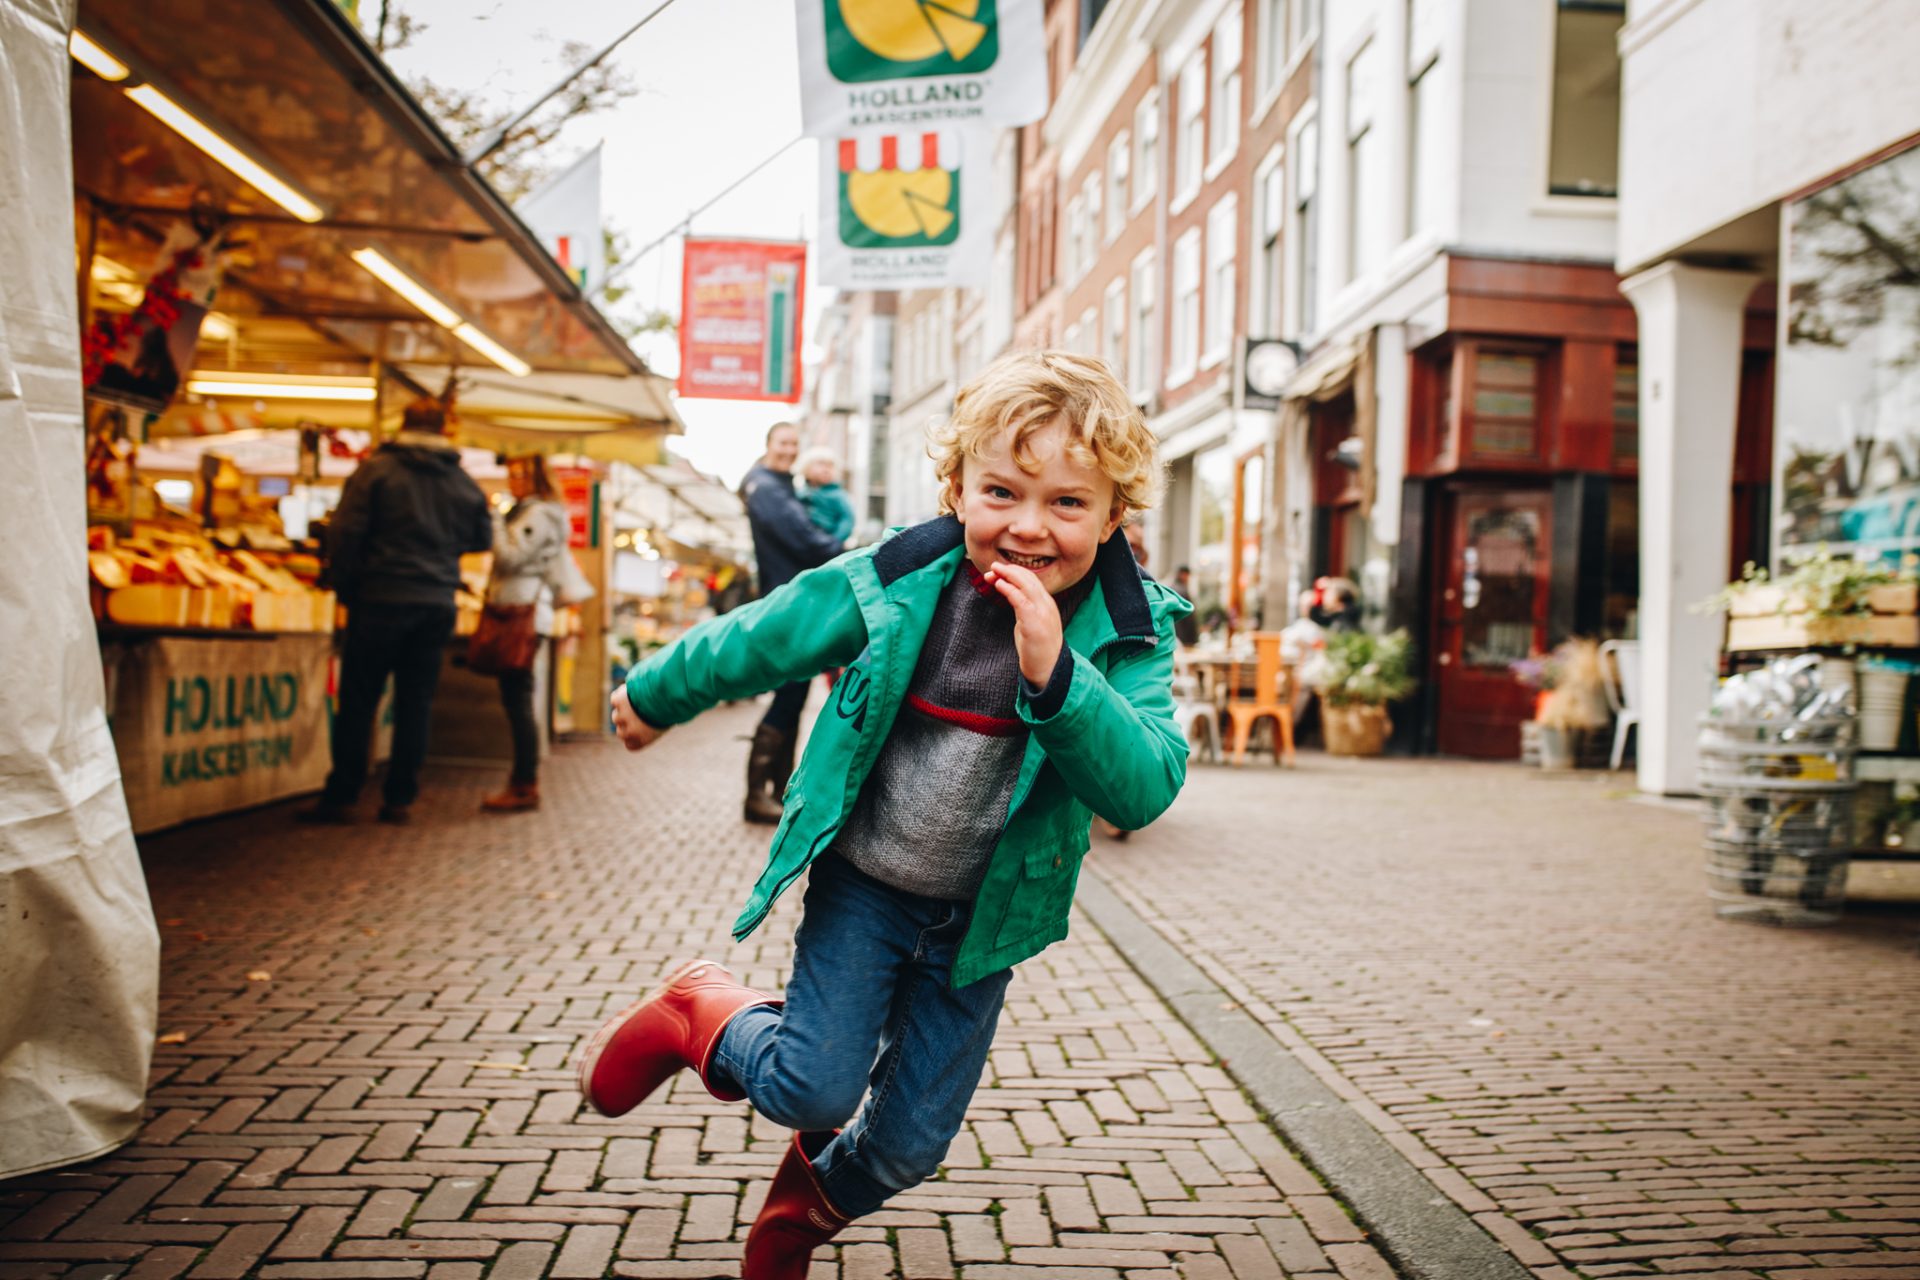
[[[586,1115],[568,1057],[687,956],[781,983],[797,892],[728,940],[766,844],[735,808],[751,723],[722,710],[641,758],[564,747],[534,816],[476,814],[497,779],[447,770],[407,829],[278,808],[148,842],[150,1119],[109,1159],[0,1184],[0,1280],[735,1276],[787,1134],[691,1075]],[[943,1178],[810,1280],[1392,1274],[1081,921],[1021,967]]]

